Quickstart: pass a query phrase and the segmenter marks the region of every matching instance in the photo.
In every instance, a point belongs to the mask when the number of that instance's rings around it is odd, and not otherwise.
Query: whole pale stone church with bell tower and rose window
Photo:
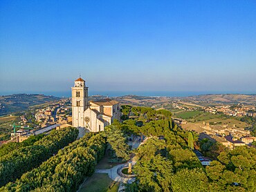
[[[89,102],[84,79],[75,80],[72,87],[72,126],[79,129],[79,137],[88,131],[104,131],[113,119],[120,121],[120,115],[119,102],[109,98]]]

